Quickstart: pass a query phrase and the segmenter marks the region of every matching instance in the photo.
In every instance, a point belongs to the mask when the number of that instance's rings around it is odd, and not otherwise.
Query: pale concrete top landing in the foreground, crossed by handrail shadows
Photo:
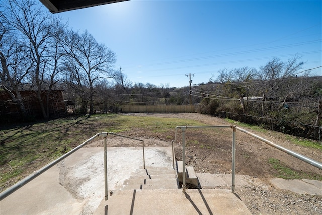
[[[251,214],[230,190],[115,190],[101,201],[96,214]]]

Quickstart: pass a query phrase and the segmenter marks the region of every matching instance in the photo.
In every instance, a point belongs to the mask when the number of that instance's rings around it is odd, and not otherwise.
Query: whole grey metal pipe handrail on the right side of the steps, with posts
[[[260,136],[254,134],[254,133],[251,133],[249,131],[246,131],[244,129],[241,129],[241,128],[237,127],[237,126],[232,126],[232,125],[219,125],[219,126],[177,126],[176,127],[176,133],[175,133],[175,142],[177,141],[177,131],[178,131],[178,129],[181,129],[182,130],[182,148],[183,148],[183,150],[182,150],[182,163],[183,163],[182,164],[182,166],[183,166],[182,188],[183,188],[183,192],[185,192],[185,190],[186,190],[185,130],[187,128],[232,128],[232,131],[233,131],[233,133],[232,133],[232,179],[231,179],[232,180],[232,183],[231,183],[231,192],[232,193],[234,193],[234,191],[235,191],[235,166],[236,166],[235,165],[235,163],[236,163],[235,162],[236,161],[236,134],[235,133],[236,133],[236,130],[239,130],[239,131],[244,132],[244,133],[246,133],[246,134],[248,134],[250,136],[253,136],[256,139],[259,139],[259,140],[265,142],[266,144],[269,144],[270,146],[272,146],[272,147],[274,147],[276,149],[279,149],[279,150],[281,150],[281,151],[283,151],[283,152],[285,152],[285,153],[287,153],[287,154],[289,154],[289,155],[291,155],[291,156],[293,156],[293,157],[295,157],[297,159],[300,159],[300,160],[302,160],[302,161],[304,161],[304,162],[306,162],[306,163],[308,163],[308,164],[310,164],[312,166],[315,166],[315,167],[317,167],[319,169],[322,169],[322,163],[321,162],[315,161],[315,160],[313,160],[311,158],[308,158],[308,157],[306,157],[304,155],[301,155],[299,153],[296,153],[294,151],[291,151],[289,149],[286,149],[286,148],[284,148],[284,147],[282,147],[280,145],[274,144],[274,142],[271,142],[271,141],[269,141],[269,140],[267,140],[267,139],[265,139],[263,137],[260,137]],[[173,151],[173,153],[174,153],[174,151]]]

